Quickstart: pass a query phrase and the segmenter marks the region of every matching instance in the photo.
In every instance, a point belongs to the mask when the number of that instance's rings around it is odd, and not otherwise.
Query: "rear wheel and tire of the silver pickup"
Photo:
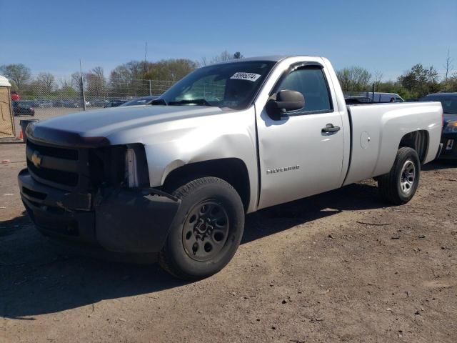
[[[420,176],[421,161],[416,150],[400,148],[391,171],[378,177],[379,193],[392,204],[406,204],[416,194]]]

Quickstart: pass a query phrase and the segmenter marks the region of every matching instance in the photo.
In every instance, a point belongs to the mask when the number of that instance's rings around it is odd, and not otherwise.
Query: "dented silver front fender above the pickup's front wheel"
[[[236,158],[248,170],[251,189],[248,211],[257,199],[255,111],[233,111],[171,125],[144,141],[151,187],[160,187],[181,166],[214,159]]]

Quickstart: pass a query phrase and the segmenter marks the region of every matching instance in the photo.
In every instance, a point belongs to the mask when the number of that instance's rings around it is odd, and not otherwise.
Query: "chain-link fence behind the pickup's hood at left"
[[[119,106],[141,96],[159,96],[174,81],[141,79],[90,79],[52,76],[49,82],[32,76],[28,84],[17,87],[11,94],[11,102],[19,136],[21,119],[45,120],[77,111]]]

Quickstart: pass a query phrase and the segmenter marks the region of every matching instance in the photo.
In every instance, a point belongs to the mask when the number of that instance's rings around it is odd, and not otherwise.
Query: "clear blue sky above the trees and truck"
[[[313,54],[395,79],[413,64],[457,70],[457,1],[0,0],[0,65],[68,75],[132,59]]]

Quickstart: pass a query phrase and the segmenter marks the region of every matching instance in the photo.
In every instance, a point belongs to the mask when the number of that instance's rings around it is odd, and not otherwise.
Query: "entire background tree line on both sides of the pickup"
[[[159,89],[154,89],[153,93],[159,94],[199,66],[242,58],[243,55],[239,51],[234,54],[223,51],[217,56],[210,59],[204,57],[200,61],[190,59],[129,61],[116,66],[109,74],[105,74],[101,66],[96,66],[83,73],[82,78],[80,72],[75,72],[69,79],[59,81],[50,73],[39,73],[32,77],[31,70],[24,64],[0,66],[0,74],[11,81],[13,90],[26,92],[31,96],[50,94],[76,97],[81,94],[83,86],[91,96],[125,94],[126,89],[129,89],[129,95],[135,96],[137,93],[149,94],[151,84],[148,80],[163,82],[159,84]],[[452,62],[448,53],[446,64],[443,66],[444,76],[441,78],[435,67],[423,66],[423,64],[413,65],[395,81],[383,81],[381,72],[371,73],[361,66],[346,67],[338,70],[336,74],[343,91],[371,91],[374,88],[375,91],[393,92],[405,99],[411,99],[437,91],[457,91],[457,72],[453,70]]]

